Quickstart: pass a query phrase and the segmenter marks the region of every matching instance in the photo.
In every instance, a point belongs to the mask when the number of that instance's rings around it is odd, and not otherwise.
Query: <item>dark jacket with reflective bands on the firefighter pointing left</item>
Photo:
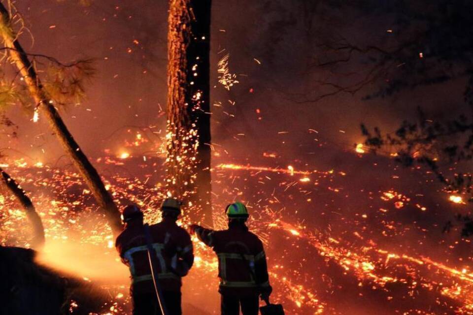
[[[213,231],[199,226],[197,237],[218,256],[219,292],[244,297],[271,293],[263,243],[244,223]]]

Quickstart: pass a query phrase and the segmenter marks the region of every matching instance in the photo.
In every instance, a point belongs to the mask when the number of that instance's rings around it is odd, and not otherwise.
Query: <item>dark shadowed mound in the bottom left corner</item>
[[[36,252],[0,246],[0,315],[64,315],[99,311],[106,301],[93,284],[61,274],[34,261]]]

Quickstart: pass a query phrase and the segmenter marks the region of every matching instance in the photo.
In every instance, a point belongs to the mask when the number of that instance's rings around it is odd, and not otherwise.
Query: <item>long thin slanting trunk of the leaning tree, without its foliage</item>
[[[1,37],[5,46],[10,48],[9,55],[11,61],[16,64],[20,71],[37,108],[46,116],[49,125],[58,137],[59,142],[69,155],[69,158],[71,158],[73,164],[77,167],[86,184],[89,186],[92,194],[97,200],[97,203],[104,210],[112,231],[115,234],[119,233],[122,230],[122,222],[120,220],[120,212],[115,205],[115,202],[113,202],[112,197],[105,189],[99,173],[97,173],[97,170],[87,159],[77,142],[75,142],[68,128],[61,119],[61,116],[54,107],[53,101],[49,99],[48,95],[44,91],[41,81],[31,64],[28,55],[18,42],[17,34],[11,28],[10,14],[1,2],[0,13],[2,16],[0,28]]]

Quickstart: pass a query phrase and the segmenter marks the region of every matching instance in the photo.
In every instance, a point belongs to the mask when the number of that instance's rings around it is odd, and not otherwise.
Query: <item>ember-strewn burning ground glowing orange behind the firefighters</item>
[[[421,169],[354,151],[338,156],[333,169],[318,168],[316,155],[303,162],[265,153],[251,164],[214,158],[216,225],[225,226],[220,210],[228,202],[248,204],[250,228],[266,244],[272,300],[294,315],[472,314],[470,241],[455,226],[442,233],[454,213],[466,211],[461,196],[450,200]],[[7,164],[45,225],[39,262],[97,284],[109,300],[99,314],[128,314],[128,271],[77,174],[25,160]],[[160,158],[103,157],[96,164],[120,204],[137,202],[147,221],[160,220]],[[406,189],[405,181],[419,185]],[[0,207],[1,244],[28,246],[28,223],[13,198],[2,194]],[[194,241],[184,310],[218,314],[217,261]],[[80,305],[71,302],[71,309]]]

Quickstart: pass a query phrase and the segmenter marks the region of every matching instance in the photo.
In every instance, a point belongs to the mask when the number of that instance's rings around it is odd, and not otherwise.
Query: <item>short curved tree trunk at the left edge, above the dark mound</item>
[[[31,202],[31,199],[26,195],[25,190],[23,190],[20,185],[18,185],[18,183],[1,168],[0,173],[5,186],[18,199],[18,202],[25,210],[26,216],[33,226],[33,240],[31,242],[31,247],[36,251],[40,251],[44,246],[44,227],[41,218],[34,209],[33,202]]]

